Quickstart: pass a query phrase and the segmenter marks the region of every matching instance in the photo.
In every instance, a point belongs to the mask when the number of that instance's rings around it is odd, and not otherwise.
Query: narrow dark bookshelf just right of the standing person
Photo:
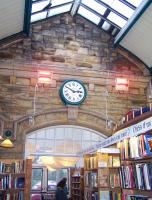
[[[84,169],[75,170],[71,176],[71,197],[73,200],[84,199]]]

